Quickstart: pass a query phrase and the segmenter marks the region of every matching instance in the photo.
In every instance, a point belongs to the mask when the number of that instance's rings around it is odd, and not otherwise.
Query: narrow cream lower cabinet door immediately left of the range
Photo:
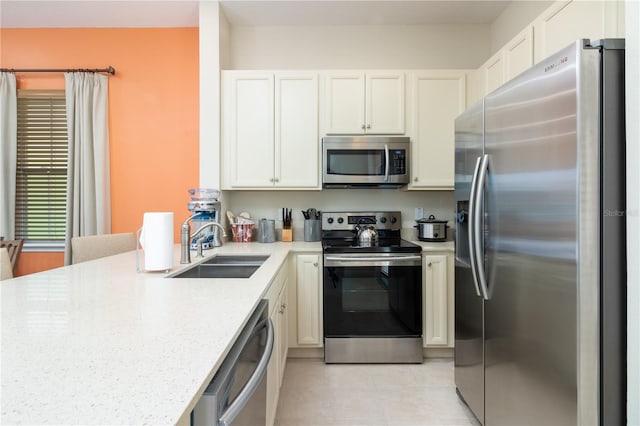
[[[289,347],[322,347],[321,254],[298,254],[291,259],[296,285],[289,291]]]

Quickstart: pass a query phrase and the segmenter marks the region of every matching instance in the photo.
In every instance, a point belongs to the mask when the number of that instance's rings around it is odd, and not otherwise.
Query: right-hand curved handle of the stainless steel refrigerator
[[[485,300],[489,300],[489,289],[487,286],[487,274],[484,270],[484,262],[483,262],[483,244],[482,243],[482,233],[484,231],[484,226],[482,222],[482,217],[484,215],[484,209],[482,208],[482,202],[484,201],[484,186],[487,181],[487,175],[489,174],[489,155],[484,154],[482,156],[482,161],[480,162],[480,170],[478,171],[478,179],[476,182],[476,189],[474,193],[474,216],[471,217],[471,222],[473,223],[472,232],[473,234],[473,246],[470,247],[470,252],[473,253],[473,257],[475,257],[477,267],[476,274],[478,277],[477,285],[480,287],[480,292],[482,293],[482,297]],[[472,237],[469,237],[470,239]]]

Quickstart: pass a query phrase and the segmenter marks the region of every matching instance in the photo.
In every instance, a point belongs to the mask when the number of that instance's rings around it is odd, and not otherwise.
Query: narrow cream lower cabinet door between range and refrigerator
[[[454,265],[450,254],[422,257],[424,347],[453,347]]]

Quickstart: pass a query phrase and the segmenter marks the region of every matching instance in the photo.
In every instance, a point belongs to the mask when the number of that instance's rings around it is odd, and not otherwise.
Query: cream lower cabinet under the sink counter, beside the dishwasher
[[[287,362],[288,343],[288,268],[283,266],[267,292],[269,318],[273,323],[273,352],[267,367],[267,420],[266,426],[273,425],[278,408],[280,386]]]

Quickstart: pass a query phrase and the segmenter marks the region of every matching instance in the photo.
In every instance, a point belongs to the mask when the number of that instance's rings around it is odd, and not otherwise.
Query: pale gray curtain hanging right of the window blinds
[[[111,233],[108,77],[66,73],[69,132],[65,265],[71,238]]]

